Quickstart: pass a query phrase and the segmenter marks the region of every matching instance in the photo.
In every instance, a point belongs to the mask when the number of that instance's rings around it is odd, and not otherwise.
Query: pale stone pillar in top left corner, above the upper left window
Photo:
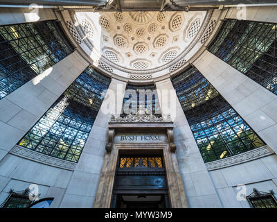
[[[51,8],[0,8],[0,13],[0,26],[57,19]]]

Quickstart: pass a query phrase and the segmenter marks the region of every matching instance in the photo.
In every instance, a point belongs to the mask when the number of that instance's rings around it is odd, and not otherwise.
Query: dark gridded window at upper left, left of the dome
[[[58,22],[0,26],[0,99],[72,52]]]

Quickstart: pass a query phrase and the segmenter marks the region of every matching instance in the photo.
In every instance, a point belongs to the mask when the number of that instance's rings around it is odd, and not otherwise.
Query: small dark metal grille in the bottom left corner
[[[26,208],[33,200],[30,200],[30,190],[25,189],[24,191],[13,191],[10,189],[8,198],[1,204],[0,208]]]

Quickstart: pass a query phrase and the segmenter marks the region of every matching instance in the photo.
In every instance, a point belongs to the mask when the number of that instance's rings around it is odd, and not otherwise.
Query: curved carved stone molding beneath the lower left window
[[[77,164],[75,162],[58,159],[56,157],[51,157],[50,155],[45,155],[43,153],[39,153],[37,151],[33,151],[29,148],[25,148],[23,146],[18,145],[14,146],[9,153],[12,155],[17,155],[19,157],[26,158],[28,160],[33,160],[35,162],[46,164],[52,167],[66,169],[69,171],[74,171]]]

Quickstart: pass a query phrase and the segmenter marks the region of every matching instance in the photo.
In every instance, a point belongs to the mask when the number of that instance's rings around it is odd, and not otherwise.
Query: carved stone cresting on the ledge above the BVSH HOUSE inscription
[[[126,117],[114,117],[111,115],[110,123],[166,123],[172,122],[170,114],[166,117],[156,117],[153,114],[129,114]]]

